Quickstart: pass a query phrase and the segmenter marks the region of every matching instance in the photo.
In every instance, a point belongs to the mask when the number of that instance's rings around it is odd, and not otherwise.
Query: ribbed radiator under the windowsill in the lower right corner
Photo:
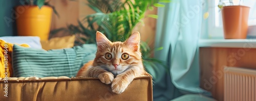
[[[224,100],[256,101],[256,70],[225,67]]]

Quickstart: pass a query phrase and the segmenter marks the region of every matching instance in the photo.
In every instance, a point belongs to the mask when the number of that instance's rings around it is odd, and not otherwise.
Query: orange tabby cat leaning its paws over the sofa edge
[[[125,42],[111,42],[101,32],[96,33],[97,53],[93,61],[84,64],[78,76],[99,78],[112,83],[112,91],[122,93],[134,78],[145,73],[141,52],[140,33],[133,33]]]

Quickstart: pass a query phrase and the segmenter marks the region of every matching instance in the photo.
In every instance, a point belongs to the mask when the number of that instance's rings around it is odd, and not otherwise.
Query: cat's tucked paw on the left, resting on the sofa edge
[[[112,73],[105,72],[99,74],[98,78],[102,83],[110,84],[114,79],[114,75]]]

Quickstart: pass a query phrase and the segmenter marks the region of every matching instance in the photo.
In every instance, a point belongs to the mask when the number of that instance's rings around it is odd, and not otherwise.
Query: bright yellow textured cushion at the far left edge
[[[12,77],[12,46],[11,43],[6,43],[4,40],[0,39],[0,78]],[[27,44],[22,44],[20,46],[29,47]]]

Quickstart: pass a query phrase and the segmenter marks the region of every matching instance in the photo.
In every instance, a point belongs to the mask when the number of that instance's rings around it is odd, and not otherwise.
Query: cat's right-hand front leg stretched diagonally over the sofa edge
[[[130,69],[117,75],[117,77],[112,82],[112,91],[120,94],[122,93],[127,86],[133,81],[135,77],[139,77],[140,72],[136,71],[135,69]]]

